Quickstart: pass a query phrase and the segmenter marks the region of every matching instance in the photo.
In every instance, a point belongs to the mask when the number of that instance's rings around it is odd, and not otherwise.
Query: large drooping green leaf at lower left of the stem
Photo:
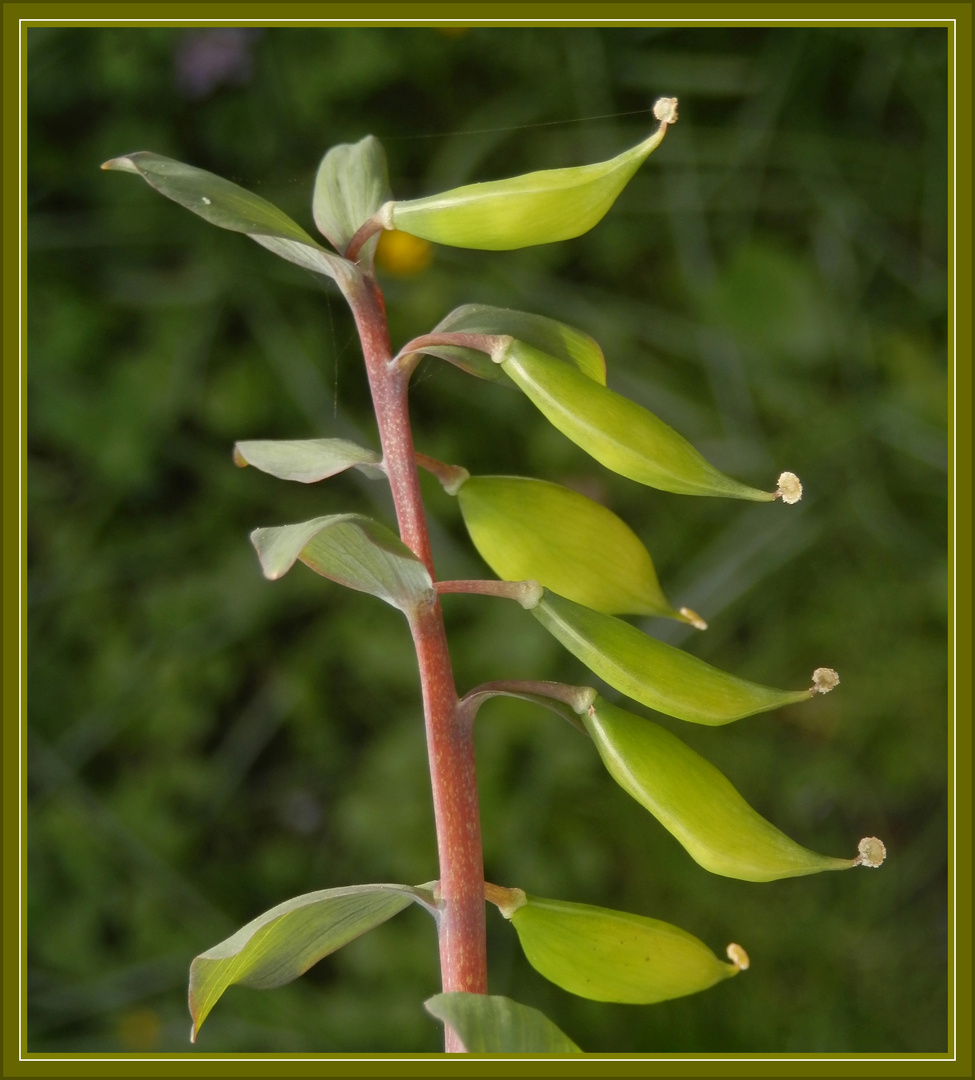
[[[273,989],[411,903],[433,907],[428,886],[357,885],[287,900],[190,964],[191,1040],[228,986]]]

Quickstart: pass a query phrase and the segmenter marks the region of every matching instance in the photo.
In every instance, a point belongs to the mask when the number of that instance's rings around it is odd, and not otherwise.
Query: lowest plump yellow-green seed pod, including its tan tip
[[[747,967],[740,946],[739,962],[725,963],[679,927],[606,907],[526,895],[510,918],[531,967],[593,1001],[653,1004],[706,990]]]

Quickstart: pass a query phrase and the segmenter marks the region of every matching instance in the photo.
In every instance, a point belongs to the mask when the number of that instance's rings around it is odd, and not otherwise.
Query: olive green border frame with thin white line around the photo
[[[953,410],[949,417],[952,441],[949,502],[949,555],[952,566],[953,773],[949,775],[953,800],[949,845],[952,888],[949,889],[949,924],[954,930],[954,954],[949,957],[949,1031],[952,1052],[932,1055],[734,1055],[642,1056],[586,1055],[561,1059],[502,1058],[510,1076],[972,1076],[970,1025],[957,1023],[972,1012],[972,665],[958,658],[972,653],[972,4],[971,3],[4,3],[3,4],[3,1072],[19,1076],[470,1076],[490,1077],[499,1071],[497,1057],[445,1055],[316,1055],[247,1056],[171,1054],[152,1055],[22,1055],[23,972],[21,967],[21,828],[23,794],[22,746],[22,626],[26,612],[21,602],[22,463],[26,416],[21,372],[26,357],[19,333],[21,285],[26,251],[19,243],[23,224],[21,180],[22,33],[27,25],[53,23],[83,26],[91,23],[242,25],[612,25],[652,22],[658,25],[701,24],[809,26],[923,25],[946,26],[952,49],[951,104],[956,133],[949,176],[954,226],[954,291],[949,294],[954,353]],[[17,357],[17,360],[14,360]],[[16,723],[15,723],[16,721]],[[966,1029],[967,1028],[967,1029]],[[178,1063],[178,1065],[177,1065]]]

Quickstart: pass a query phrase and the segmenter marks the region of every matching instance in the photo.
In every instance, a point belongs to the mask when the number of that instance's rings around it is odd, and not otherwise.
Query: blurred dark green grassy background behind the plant
[[[459,303],[593,334],[610,384],[795,508],[680,498],[588,460],[527,401],[429,361],[418,448],[570,483],[645,539],[706,634],[645,627],[805,706],[664,720],[801,842],[881,870],[715,878],[550,714],[477,724],[487,875],[651,915],[747,975],[652,1008],[574,999],[489,915],[491,990],[609,1052],[930,1052],[947,1043],[947,31],[936,28],[33,28],[27,35],[28,1049],[186,1052],[191,958],[280,901],[436,876],[402,617],[257,525],[363,510],[236,438],[375,444],[330,284],[100,162],[153,150],[312,228],[331,145],[378,136],[400,198],[609,157],[680,121],[594,231],[387,274],[394,342]],[[592,119],[595,118],[595,119]],[[426,484],[424,480],[424,485]],[[442,577],[485,573],[424,487]],[[445,602],[459,686],[592,677],[515,605]],[[274,991],[231,989],[202,1052],[436,1051],[433,924],[408,910]]]

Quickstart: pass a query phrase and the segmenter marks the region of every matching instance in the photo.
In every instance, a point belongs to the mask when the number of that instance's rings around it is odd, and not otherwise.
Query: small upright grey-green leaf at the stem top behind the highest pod
[[[315,177],[312,213],[320,232],[336,251],[344,252],[358,227],[392,198],[385,151],[367,135],[358,143],[334,146],[322,159]],[[371,262],[376,241],[360,253]]]

